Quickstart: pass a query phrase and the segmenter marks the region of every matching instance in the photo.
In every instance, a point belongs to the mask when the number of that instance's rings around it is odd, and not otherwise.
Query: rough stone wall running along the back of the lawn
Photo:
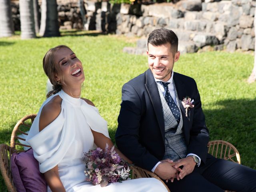
[[[84,28],[142,37],[138,48],[128,52],[144,51],[146,37],[160,27],[176,32],[181,52],[224,47],[230,52],[254,50],[254,0],[181,0],[176,4],[150,5],[112,5],[86,0],[84,26],[78,0],[57,0],[57,3],[61,29]],[[19,30],[18,4],[14,1],[12,12],[15,29]]]

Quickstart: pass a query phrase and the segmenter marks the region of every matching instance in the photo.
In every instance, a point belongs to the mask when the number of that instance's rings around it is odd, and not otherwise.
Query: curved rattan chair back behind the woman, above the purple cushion
[[[27,116],[24,116],[22,119],[20,119],[17,124],[15,125],[14,129],[12,130],[12,136],[11,136],[11,144],[10,146],[14,149],[16,149],[18,152],[24,151],[22,150],[22,147],[30,147],[26,144],[21,144],[18,139],[25,141],[24,138],[21,138],[20,135],[28,135],[26,132],[30,129],[31,124],[33,123],[34,119],[36,117],[36,114],[30,114]],[[18,147],[22,146],[22,147]]]

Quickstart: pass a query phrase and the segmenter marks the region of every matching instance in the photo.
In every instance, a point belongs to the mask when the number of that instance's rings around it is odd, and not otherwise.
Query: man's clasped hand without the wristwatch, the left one
[[[173,162],[172,160],[163,160],[156,167],[154,173],[164,180],[176,178],[176,173],[178,172],[178,170],[173,167],[175,166],[175,164],[176,162]]]

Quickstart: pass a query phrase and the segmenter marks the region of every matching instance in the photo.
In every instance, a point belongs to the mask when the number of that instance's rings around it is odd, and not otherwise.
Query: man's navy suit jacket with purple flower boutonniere
[[[174,72],[174,83],[182,110],[183,131],[188,153],[194,153],[205,164],[209,132],[194,79]],[[182,100],[194,99],[194,108],[185,116]],[[152,170],[165,152],[164,117],[154,76],[148,69],[122,87],[116,144],[136,165]]]

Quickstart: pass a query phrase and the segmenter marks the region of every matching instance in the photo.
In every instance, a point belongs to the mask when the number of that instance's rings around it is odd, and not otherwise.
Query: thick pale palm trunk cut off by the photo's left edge
[[[0,37],[10,37],[14,32],[10,0],[0,0]]]

